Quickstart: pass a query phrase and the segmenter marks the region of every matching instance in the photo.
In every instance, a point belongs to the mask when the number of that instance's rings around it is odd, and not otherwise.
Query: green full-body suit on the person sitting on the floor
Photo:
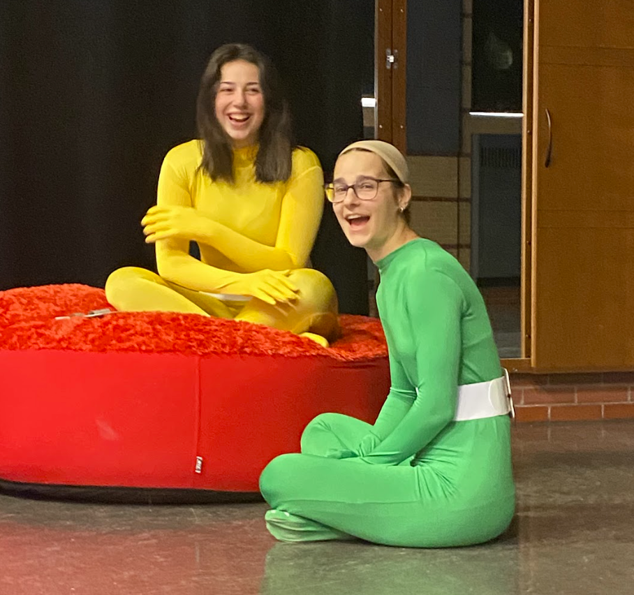
[[[418,238],[377,263],[391,388],[376,423],[314,419],[302,453],[260,477],[282,541],[357,537],[438,548],[499,536],[515,510],[510,418],[454,421],[458,386],[501,367],[478,288],[438,244]],[[318,390],[318,387],[316,387]]]

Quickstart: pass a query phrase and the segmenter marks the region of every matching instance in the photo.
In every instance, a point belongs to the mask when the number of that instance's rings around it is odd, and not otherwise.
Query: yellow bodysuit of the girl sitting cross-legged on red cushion
[[[157,205],[193,207],[205,215],[202,237],[157,240],[159,274],[139,267],[116,270],[106,281],[108,301],[119,310],[236,318],[332,340],[338,329],[334,288],[325,275],[307,268],[323,212],[317,156],[297,148],[290,178],[263,183],[255,177],[257,148],[237,149],[231,184],[213,182],[199,169],[201,149],[200,141],[191,140],[168,152]],[[190,256],[190,240],[198,242],[200,260]],[[284,272],[299,290],[297,299],[275,304],[249,299],[259,295],[258,272],[265,270]]]

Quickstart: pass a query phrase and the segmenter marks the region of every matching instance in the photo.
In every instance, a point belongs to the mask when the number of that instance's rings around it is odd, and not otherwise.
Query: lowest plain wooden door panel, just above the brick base
[[[631,369],[634,228],[553,226],[538,229],[536,241],[533,366]]]

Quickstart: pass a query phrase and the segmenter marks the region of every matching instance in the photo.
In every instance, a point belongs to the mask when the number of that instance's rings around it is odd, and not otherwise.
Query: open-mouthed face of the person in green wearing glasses
[[[333,184],[351,186],[363,179],[390,179],[394,177],[385,170],[381,157],[367,151],[350,151],[337,159],[334,166]],[[401,244],[416,237],[408,228],[400,207],[406,207],[411,198],[408,185],[396,191],[394,184],[378,184],[376,198],[360,200],[352,189],[341,203],[332,205],[341,229],[348,241],[364,248],[376,262],[387,256]]]

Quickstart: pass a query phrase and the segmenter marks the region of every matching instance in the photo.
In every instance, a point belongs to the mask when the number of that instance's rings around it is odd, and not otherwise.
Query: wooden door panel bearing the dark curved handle
[[[538,84],[538,211],[634,210],[634,68],[540,64]]]

